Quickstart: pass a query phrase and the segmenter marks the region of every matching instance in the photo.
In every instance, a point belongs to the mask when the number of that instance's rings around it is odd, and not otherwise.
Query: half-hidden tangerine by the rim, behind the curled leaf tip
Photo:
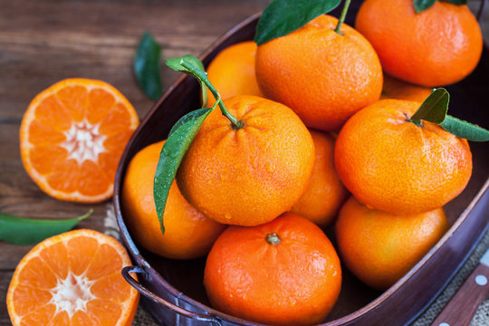
[[[207,78],[223,100],[235,95],[264,96],[254,73],[255,55],[256,43],[253,41],[235,43],[218,53],[209,63]],[[207,90],[207,107],[215,102],[216,99]]]

